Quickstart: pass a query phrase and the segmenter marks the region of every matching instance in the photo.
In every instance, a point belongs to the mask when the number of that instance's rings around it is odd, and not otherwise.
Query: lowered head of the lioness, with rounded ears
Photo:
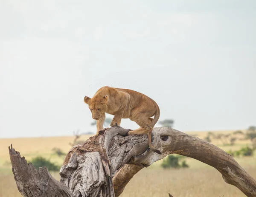
[[[84,97],[84,102],[88,104],[88,107],[92,113],[92,117],[95,120],[99,120],[102,115],[107,110],[107,101],[108,96],[95,96],[93,98],[89,98],[88,96]]]

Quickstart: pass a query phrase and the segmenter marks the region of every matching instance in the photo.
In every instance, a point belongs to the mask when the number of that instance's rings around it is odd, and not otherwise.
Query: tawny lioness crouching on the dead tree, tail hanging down
[[[97,133],[103,129],[105,113],[114,115],[110,124],[120,126],[122,118],[129,118],[136,122],[140,128],[129,131],[128,135],[143,135],[148,133],[148,145],[151,150],[161,154],[151,144],[151,132],[160,116],[160,109],[155,101],[142,93],[134,90],[120,89],[113,87],[100,88],[93,98],[84,97],[88,104],[93,119],[96,120]],[[151,118],[154,115],[154,119]]]

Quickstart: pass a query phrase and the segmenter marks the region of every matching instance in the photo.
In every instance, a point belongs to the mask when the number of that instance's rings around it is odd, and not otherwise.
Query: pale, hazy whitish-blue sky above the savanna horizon
[[[83,98],[106,85],[151,97],[160,120],[183,132],[256,125],[255,8],[255,0],[1,0],[0,138],[96,132]]]

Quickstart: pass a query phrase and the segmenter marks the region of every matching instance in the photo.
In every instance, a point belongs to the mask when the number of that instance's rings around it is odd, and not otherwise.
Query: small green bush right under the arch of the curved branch
[[[188,168],[189,166],[186,164],[186,161],[182,161],[181,165],[179,164],[179,160],[184,158],[181,155],[168,155],[167,158],[163,160],[161,166],[163,168]]]

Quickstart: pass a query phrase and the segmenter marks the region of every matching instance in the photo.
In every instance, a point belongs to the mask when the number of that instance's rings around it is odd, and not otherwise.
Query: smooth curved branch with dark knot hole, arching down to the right
[[[176,153],[206,163],[217,169],[226,183],[236,186],[247,197],[256,196],[256,181],[224,150],[168,127],[157,127],[154,133],[157,135],[154,146],[160,148],[163,155]],[[133,158],[132,162],[151,165],[159,159],[154,153],[145,152]]]

